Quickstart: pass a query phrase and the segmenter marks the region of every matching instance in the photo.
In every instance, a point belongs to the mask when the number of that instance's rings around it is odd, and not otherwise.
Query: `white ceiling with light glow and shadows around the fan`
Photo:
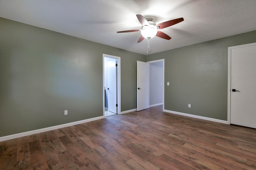
[[[256,0],[0,0],[0,17],[147,55],[136,14],[161,23],[172,39],[150,39],[152,53],[256,30]]]

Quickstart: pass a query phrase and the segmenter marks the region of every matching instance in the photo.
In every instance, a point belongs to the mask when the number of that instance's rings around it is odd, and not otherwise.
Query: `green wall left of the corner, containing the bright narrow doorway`
[[[136,108],[145,55],[0,18],[0,137],[102,116],[103,53],[121,57],[121,111]]]

